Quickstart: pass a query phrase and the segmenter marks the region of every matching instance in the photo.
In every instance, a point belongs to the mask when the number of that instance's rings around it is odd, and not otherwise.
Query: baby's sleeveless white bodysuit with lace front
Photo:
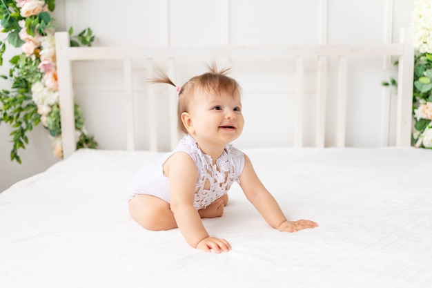
[[[197,165],[198,178],[193,203],[195,209],[206,208],[217,198],[226,194],[233,182],[239,183],[239,175],[244,168],[242,151],[228,144],[224,153],[217,158],[216,164],[213,165],[211,157],[201,151],[193,137],[185,135],[173,152],[150,162],[135,174],[128,188],[128,199],[132,199],[135,195],[148,194],[170,203],[168,177],[164,175],[163,165],[173,153],[179,151],[190,155]],[[208,189],[204,189],[206,183],[210,184]]]

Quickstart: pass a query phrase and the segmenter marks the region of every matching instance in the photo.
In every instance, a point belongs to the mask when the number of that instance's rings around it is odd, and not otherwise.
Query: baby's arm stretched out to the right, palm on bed
[[[244,169],[239,179],[246,198],[255,206],[271,227],[280,231],[295,232],[318,226],[317,223],[311,220],[286,220],[273,195],[267,191],[259,180],[247,155],[244,155]]]

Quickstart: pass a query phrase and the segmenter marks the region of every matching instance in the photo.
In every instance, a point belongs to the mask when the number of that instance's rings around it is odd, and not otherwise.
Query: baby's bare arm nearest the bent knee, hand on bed
[[[229,251],[230,244],[226,240],[208,235],[193,207],[198,175],[195,162],[186,153],[174,153],[164,164],[164,172],[170,184],[170,207],[186,242],[204,251]]]

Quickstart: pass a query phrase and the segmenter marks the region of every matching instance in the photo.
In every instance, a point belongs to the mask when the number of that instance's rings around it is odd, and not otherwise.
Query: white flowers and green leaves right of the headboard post
[[[432,148],[432,2],[417,0],[413,10],[413,44],[416,50],[413,88],[412,142]]]

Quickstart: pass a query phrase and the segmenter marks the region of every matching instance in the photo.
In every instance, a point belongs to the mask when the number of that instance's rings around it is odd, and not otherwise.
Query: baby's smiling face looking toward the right
[[[193,122],[190,134],[195,140],[218,145],[236,140],[244,127],[240,95],[213,91],[195,93],[189,112]]]

